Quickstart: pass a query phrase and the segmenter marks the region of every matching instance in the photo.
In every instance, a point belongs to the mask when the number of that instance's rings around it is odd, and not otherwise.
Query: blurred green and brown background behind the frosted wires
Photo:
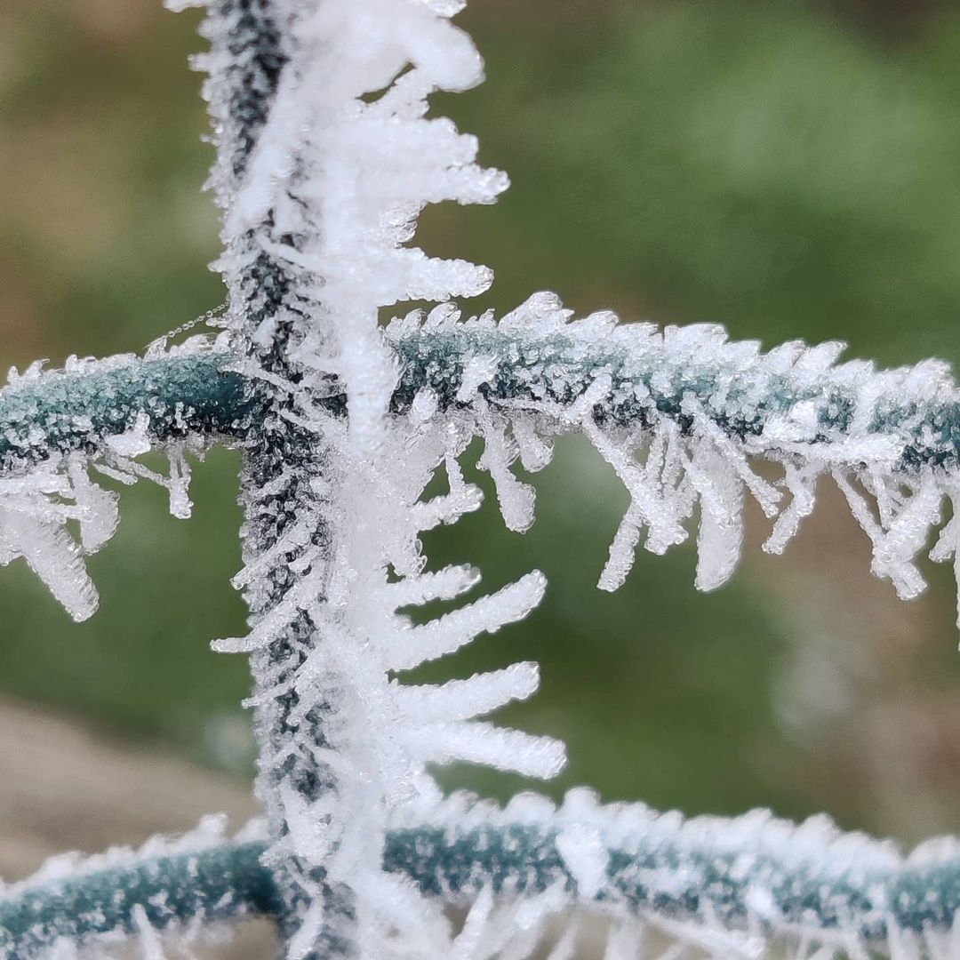
[[[0,5],[0,361],[143,348],[223,300],[201,195],[196,12],[158,0]],[[476,308],[540,289],[578,311],[726,324],[767,346],[841,339],[883,364],[960,359],[960,12],[952,4],[474,0],[460,22],[489,80],[437,98],[512,189],[427,211],[430,252],[492,265]],[[249,680],[208,642],[243,629],[238,456],[196,470],[195,516],[123,493],[89,566],[100,612],[72,624],[13,564],[0,571],[0,694],[249,778]],[[480,480],[484,483],[483,478]],[[505,722],[563,736],[547,789],[696,813],[754,805],[914,839],[960,830],[960,655],[948,571],[900,604],[822,484],[784,558],[751,547],[732,583],[692,588],[693,555],[641,552],[594,588],[626,496],[580,442],[540,474],[531,533],[492,509],[431,537],[495,588],[550,580],[522,626],[431,677],[540,660]],[[492,500],[492,497],[488,497]],[[426,675],[426,672],[424,672]],[[0,772],[2,776],[2,772]],[[519,783],[446,776],[497,795]]]

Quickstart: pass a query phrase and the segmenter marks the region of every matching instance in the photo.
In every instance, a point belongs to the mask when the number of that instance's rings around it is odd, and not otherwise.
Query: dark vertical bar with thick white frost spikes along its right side
[[[365,957],[422,946],[420,897],[381,862],[389,812],[438,796],[429,764],[533,777],[564,764],[558,742],[480,719],[534,691],[533,665],[433,687],[402,682],[523,618],[545,587],[533,571],[464,602],[476,571],[425,569],[420,534],[480,505],[458,463],[472,431],[444,418],[429,391],[408,415],[388,416],[399,367],[381,310],[474,296],[492,279],[410,245],[424,205],[489,204],[507,185],[476,164],[474,137],[426,115],[435,90],[482,78],[472,42],[449,22],[459,7],[214,3],[204,27],[227,248],[217,266],[237,369],[275,397],[245,469],[246,567],[234,583],[251,631],[214,646],[251,654],[266,858],[289,906],[293,958],[344,944]],[[465,402],[487,375],[474,358]],[[346,418],[324,407],[333,383]],[[480,466],[508,525],[525,529],[533,493],[509,470],[516,445],[483,423]],[[424,499],[438,468],[447,489]],[[411,612],[433,601],[457,605],[426,622]]]

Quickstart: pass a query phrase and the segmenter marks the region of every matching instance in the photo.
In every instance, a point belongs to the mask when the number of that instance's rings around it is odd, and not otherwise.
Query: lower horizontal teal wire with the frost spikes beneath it
[[[126,955],[135,939],[153,960],[170,946],[223,942],[230,921],[282,914],[264,844],[261,824],[228,839],[210,817],[172,843],[54,858],[0,898],[0,949],[106,957]],[[445,907],[464,918],[452,942],[443,922],[421,931],[425,955],[547,948],[551,958],[583,950],[605,960],[676,957],[680,945],[695,956],[757,957],[767,944],[795,958],[889,948],[948,960],[960,945],[958,868],[952,840],[903,858],[825,817],[799,827],[765,811],[684,822],[641,804],[601,806],[585,790],[558,808],[534,794],[504,809],[462,794],[408,807],[383,860],[438,915]]]

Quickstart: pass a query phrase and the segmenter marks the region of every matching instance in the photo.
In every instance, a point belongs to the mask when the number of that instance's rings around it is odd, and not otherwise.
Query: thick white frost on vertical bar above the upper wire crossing
[[[449,23],[462,3],[265,6],[286,39],[289,62],[239,180],[229,127],[222,134],[213,177],[228,246],[220,267],[237,276],[259,253],[285,265],[296,294],[311,304],[306,322],[294,324],[287,358],[314,378],[340,378],[352,442],[370,452],[396,379],[380,309],[400,300],[471,297],[492,281],[487,267],[408,245],[426,204],[491,204],[507,187],[505,174],[475,163],[475,137],[445,117],[426,118],[428,95],[479,83],[483,61]],[[215,49],[199,62],[211,77],[211,110],[228,125],[233,118],[216,79],[232,65],[231,55],[216,48],[223,26],[211,19]],[[269,343],[277,322],[265,319],[254,343]]]

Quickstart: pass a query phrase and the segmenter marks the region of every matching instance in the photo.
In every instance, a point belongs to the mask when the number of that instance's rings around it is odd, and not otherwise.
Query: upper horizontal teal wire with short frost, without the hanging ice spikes
[[[840,344],[787,344],[763,355],[753,343],[726,343],[722,328],[712,325],[661,334],[649,324],[617,325],[610,314],[569,322],[548,294],[536,295],[499,324],[458,323],[449,310],[438,313],[425,324],[386,328],[399,365],[393,415],[409,414],[425,390],[444,413],[468,409],[475,400],[505,409],[549,400],[555,428],[578,429],[584,405],[574,408],[574,402],[609,376],[610,389],[594,392],[589,410],[604,425],[644,429],[666,418],[689,434],[693,420],[683,404],[698,402],[731,440],[753,438],[752,455],[788,452],[783,441],[790,438],[776,431],[812,416],[815,429],[792,438],[804,444],[803,452],[873,436],[877,450],[886,444],[889,462],[904,472],[957,462],[960,393],[936,362],[871,376],[876,397],[867,400],[873,405],[865,417],[863,374],[872,368],[861,362],[834,366]],[[543,329],[537,318],[548,313],[559,323]],[[529,322],[516,323],[524,315]],[[486,374],[476,382],[481,363]],[[141,414],[150,418],[154,444],[188,436],[240,440],[263,416],[267,395],[236,366],[229,350],[201,342],[145,358],[73,361],[63,371],[14,374],[0,394],[0,470],[103,450],[108,437],[131,431]],[[465,374],[472,386],[464,386]],[[744,396],[760,392],[752,407],[742,404]],[[336,379],[321,402],[331,414],[346,414],[346,394]]]

